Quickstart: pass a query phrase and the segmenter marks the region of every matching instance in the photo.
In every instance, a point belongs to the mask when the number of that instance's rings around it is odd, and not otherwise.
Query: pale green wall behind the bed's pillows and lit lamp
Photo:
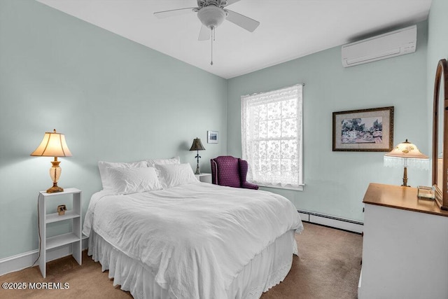
[[[52,158],[43,133],[66,135],[59,186],[101,188],[98,160],[171,158],[202,170],[226,151],[227,82],[33,0],[0,1],[0,258],[38,248],[37,195]],[[207,130],[220,132],[207,144]],[[55,207],[56,208],[56,204]]]

